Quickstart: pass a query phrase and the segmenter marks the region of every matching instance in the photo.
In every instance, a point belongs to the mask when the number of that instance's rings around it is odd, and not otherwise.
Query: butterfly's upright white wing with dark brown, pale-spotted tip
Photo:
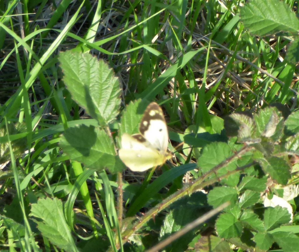
[[[165,153],[168,144],[168,130],[160,106],[150,103],[141,119],[139,131],[141,135],[161,153]]]

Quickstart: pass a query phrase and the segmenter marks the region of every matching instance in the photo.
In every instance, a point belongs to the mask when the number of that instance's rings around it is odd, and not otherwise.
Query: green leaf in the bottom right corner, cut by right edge
[[[297,252],[299,248],[299,237],[294,233],[275,232],[272,233],[275,242],[282,248],[283,251]]]

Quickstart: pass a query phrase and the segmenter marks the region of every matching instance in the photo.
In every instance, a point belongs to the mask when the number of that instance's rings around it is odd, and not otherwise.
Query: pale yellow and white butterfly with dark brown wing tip
[[[162,165],[172,157],[167,151],[168,130],[161,107],[150,103],[144,111],[139,126],[139,134],[121,136],[118,151],[123,163],[132,171],[146,171]]]

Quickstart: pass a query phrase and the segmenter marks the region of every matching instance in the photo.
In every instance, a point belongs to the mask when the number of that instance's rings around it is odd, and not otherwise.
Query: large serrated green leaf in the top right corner
[[[281,31],[296,34],[299,20],[284,1],[252,0],[241,8],[241,21],[252,35],[264,36]]]

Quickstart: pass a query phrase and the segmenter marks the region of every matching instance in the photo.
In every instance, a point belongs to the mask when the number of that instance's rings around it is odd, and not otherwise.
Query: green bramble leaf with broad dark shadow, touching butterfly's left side
[[[60,140],[60,147],[71,160],[76,160],[88,168],[115,170],[114,142],[104,130],[80,125],[65,130]],[[118,165],[121,162],[119,161]],[[120,166],[123,168],[123,166]]]

